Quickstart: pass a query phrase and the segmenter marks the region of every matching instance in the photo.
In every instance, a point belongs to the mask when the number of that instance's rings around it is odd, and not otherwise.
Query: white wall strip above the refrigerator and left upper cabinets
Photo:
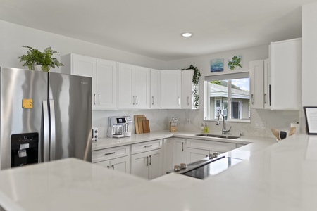
[[[52,49],[59,52],[59,54],[54,54],[58,60],[61,55],[77,53],[159,70],[165,69],[167,65],[167,63],[162,60],[139,56],[135,53],[111,49],[106,46],[35,30],[30,27],[8,23],[2,20],[0,20],[0,40],[0,66],[3,67],[27,68],[22,67],[22,63],[18,60],[18,56],[27,53],[27,49],[22,46],[32,46],[40,51],[51,46]],[[60,72],[59,68],[50,71]]]

